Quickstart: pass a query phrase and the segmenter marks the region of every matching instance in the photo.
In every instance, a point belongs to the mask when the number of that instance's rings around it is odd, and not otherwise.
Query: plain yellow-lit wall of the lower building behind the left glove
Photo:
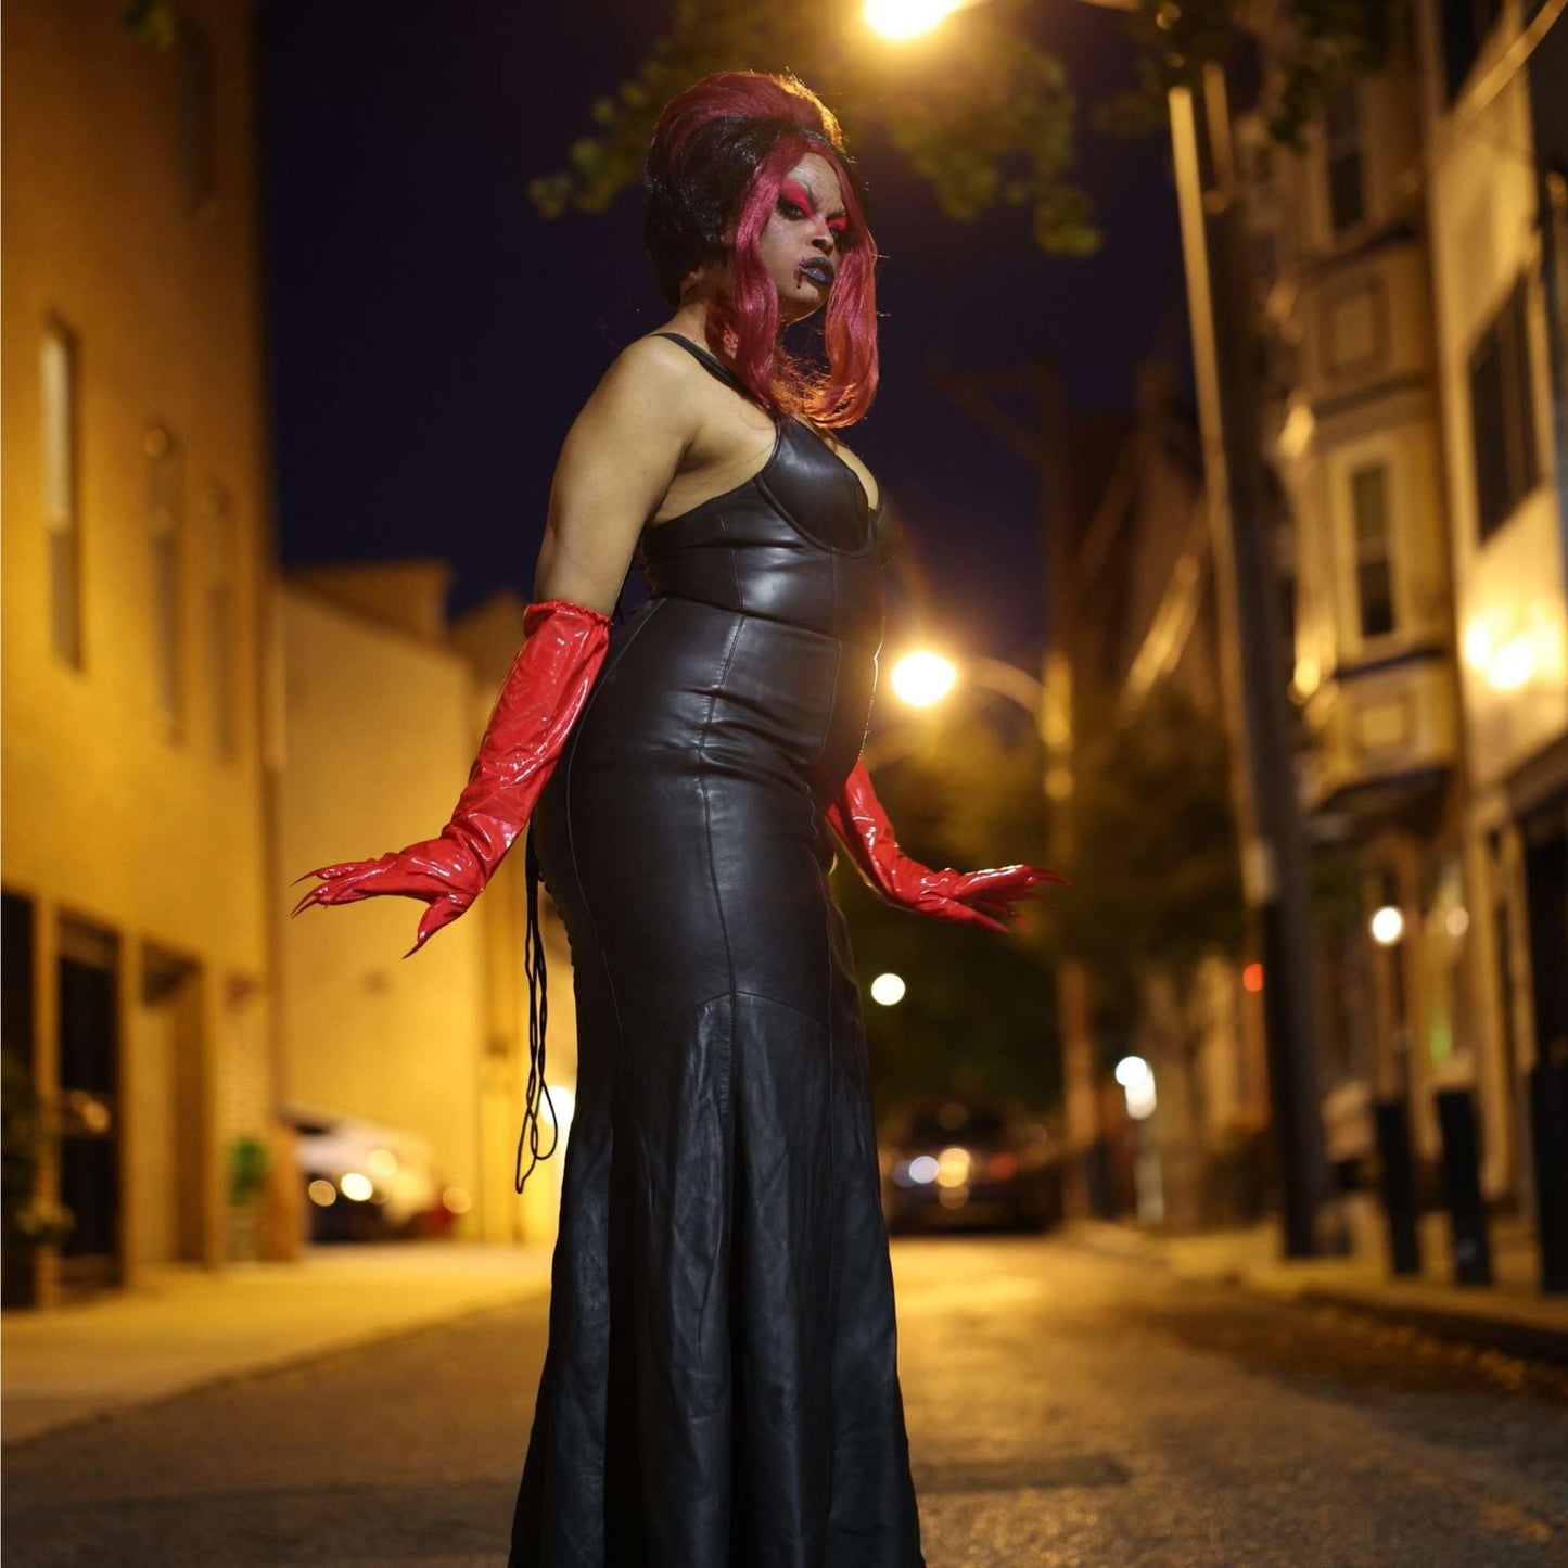
[[[408,613],[406,566],[378,572],[317,571],[312,586],[285,586],[281,883],[433,837],[467,778],[477,739],[469,663]],[[425,572],[439,601],[445,571]],[[381,618],[378,582],[387,586]],[[478,1237],[486,1207],[506,1196],[480,1170],[480,911],[405,960],[423,911],[411,898],[367,898],[287,924],[289,1094],[426,1138],[442,1178],[474,1200],[453,1234]]]

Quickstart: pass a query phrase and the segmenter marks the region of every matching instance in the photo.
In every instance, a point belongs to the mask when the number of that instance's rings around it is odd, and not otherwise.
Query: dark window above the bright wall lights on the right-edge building
[[[1475,519],[1482,539],[1507,522],[1541,478],[1526,310],[1521,276],[1469,362]]]

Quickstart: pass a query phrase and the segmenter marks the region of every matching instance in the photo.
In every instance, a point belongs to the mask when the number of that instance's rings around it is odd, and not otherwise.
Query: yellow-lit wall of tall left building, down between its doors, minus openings
[[[187,8],[182,45],[168,50],[130,36],[119,11],[97,0],[16,0],[3,11],[0,862],[6,891],[34,903],[39,975],[53,974],[66,916],[119,942],[122,1203],[133,1265],[221,1258],[223,1145],[265,1134],[257,693],[270,544],[252,8],[199,0]],[[212,113],[185,121],[193,72],[213,88]],[[50,323],[75,342],[80,666],[50,637],[41,372]],[[179,450],[172,638],[160,635],[157,615],[157,431]],[[226,635],[213,624],[220,577]],[[176,649],[180,670],[172,717],[160,696],[160,648]],[[149,949],[190,966],[183,1024],[174,1008],[146,1004]],[[56,1069],[56,999],[47,991],[34,1040],[45,1090]],[[187,1040],[176,1051],[180,1030]],[[171,1104],[199,1123],[199,1148],[183,1163],[171,1143]],[[191,1193],[180,1200],[183,1217],[171,1209],[176,1181],[194,1184],[194,1214]]]

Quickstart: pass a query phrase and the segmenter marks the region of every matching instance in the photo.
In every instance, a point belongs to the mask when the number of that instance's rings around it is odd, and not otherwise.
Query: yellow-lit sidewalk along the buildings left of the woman
[[[149,1269],[129,1290],[0,1323],[0,1441],[544,1295],[547,1247],[307,1248],[298,1262]]]

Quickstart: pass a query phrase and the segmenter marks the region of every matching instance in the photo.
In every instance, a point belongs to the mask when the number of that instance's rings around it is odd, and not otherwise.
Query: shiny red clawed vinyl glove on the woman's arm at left
[[[610,616],[569,599],[546,599],[524,610],[522,635],[452,822],[437,837],[379,859],[306,872],[323,880],[295,905],[295,914],[312,903],[354,903],[379,894],[423,898],[430,908],[403,955],[412,958],[485,891],[583,710],[610,644]]]

